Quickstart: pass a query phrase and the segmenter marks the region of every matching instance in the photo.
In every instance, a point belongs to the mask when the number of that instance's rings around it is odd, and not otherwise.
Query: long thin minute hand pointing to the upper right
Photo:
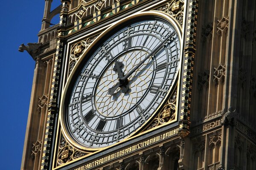
[[[172,34],[174,33],[175,31],[172,32]],[[168,40],[172,36],[172,34],[168,35],[166,39],[164,39],[159,45],[157,45],[156,48],[154,48],[154,50],[151,51],[151,53],[149,53],[141,62],[139,62],[139,64],[137,64],[129,73],[127,73],[124,77],[120,78],[119,80],[125,81],[126,79],[128,79],[128,77],[130,77],[134,71],[136,71],[149,57],[151,57],[152,54],[154,54],[157,50],[159,50],[162,47],[163,43],[165,43],[166,40]]]

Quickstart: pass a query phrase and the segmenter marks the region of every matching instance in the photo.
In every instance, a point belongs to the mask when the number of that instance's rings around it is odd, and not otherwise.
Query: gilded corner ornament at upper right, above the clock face
[[[183,23],[183,10],[184,10],[184,0],[171,0],[170,3],[166,3],[158,11],[166,12],[177,20],[180,25]]]

